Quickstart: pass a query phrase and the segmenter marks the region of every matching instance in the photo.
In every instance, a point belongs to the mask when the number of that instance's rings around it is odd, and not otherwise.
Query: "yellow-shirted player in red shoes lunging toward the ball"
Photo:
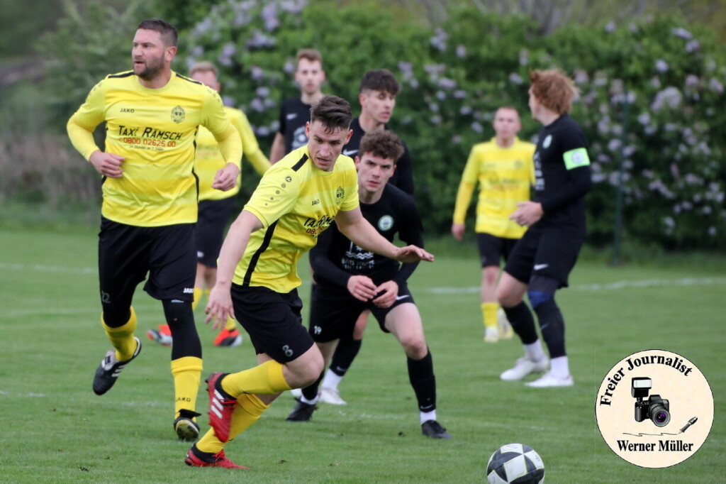
[[[207,321],[236,316],[257,352],[259,365],[207,379],[211,429],[187,452],[194,467],[237,467],[224,445],[256,422],[280,392],[306,387],[323,359],[302,324],[297,263],[333,220],[364,249],[400,262],[433,260],[416,246],[399,248],[361,214],[358,178],[351,158],[341,156],[351,137],[351,107],[324,96],[311,108],[308,144],[269,169],[229,228],[219,253],[217,282]]]

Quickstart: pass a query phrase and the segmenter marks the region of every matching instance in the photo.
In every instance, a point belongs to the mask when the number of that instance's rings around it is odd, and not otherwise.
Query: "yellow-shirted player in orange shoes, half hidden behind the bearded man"
[[[218,81],[218,71],[211,62],[197,62],[189,69],[189,77],[209,86],[216,92],[221,89]],[[270,167],[262,150],[257,143],[252,126],[245,113],[239,109],[224,107],[229,121],[237,128],[242,137],[242,150],[250,164],[259,174],[264,174]],[[194,302],[192,310],[197,307],[204,291],[214,286],[217,275],[217,256],[222,245],[224,228],[227,227],[229,217],[234,208],[234,195],[240,192],[242,184],[242,166],[237,177],[237,185],[226,192],[212,188],[214,177],[219,169],[224,168],[224,157],[219,152],[219,146],[213,134],[204,126],[197,132],[197,151],[195,158],[195,173],[199,177],[199,219],[195,230],[197,240],[197,278],[194,283]],[[149,339],[153,339],[166,346],[171,345],[171,328],[168,324],[160,325],[158,329],[147,331]],[[237,328],[234,319],[229,318],[227,325],[214,339],[215,346],[235,347],[242,344],[242,334]]]

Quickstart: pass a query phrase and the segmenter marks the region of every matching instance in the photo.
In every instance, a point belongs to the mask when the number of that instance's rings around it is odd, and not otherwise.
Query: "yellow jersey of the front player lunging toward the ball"
[[[300,286],[298,260],[327,229],[338,211],[358,206],[358,174],[340,155],[333,171],[318,169],[307,145],[267,170],[245,205],[263,228],[252,233],[232,281],[287,293]]]

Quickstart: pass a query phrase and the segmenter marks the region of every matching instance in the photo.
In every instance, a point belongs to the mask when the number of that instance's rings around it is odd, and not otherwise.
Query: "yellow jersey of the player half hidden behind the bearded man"
[[[227,112],[232,126],[237,128],[237,132],[240,133],[240,137],[242,138],[242,151],[245,153],[245,158],[250,161],[250,164],[252,164],[256,172],[264,174],[270,167],[270,162],[264,156],[264,153],[262,153],[247,116],[239,109],[225,107],[224,110]],[[233,163],[236,161],[232,160]],[[240,168],[240,176],[237,177],[237,185],[232,190],[223,192],[212,188],[215,175],[219,169],[227,166],[227,161],[224,161],[224,156],[219,151],[219,145],[217,144],[217,140],[214,139],[214,135],[204,126],[199,126],[199,132],[197,132],[197,156],[194,163],[194,171],[197,177],[199,177],[200,201],[221,200],[237,195],[240,192],[240,185],[242,183],[242,166],[240,164],[237,164],[238,168]]]

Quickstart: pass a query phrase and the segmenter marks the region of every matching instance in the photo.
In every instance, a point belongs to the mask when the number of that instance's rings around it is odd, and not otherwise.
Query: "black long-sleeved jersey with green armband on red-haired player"
[[[590,190],[590,158],[580,125],[564,114],[539,132],[534,153],[534,201],[544,215],[533,227],[585,228],[585,194]]]

